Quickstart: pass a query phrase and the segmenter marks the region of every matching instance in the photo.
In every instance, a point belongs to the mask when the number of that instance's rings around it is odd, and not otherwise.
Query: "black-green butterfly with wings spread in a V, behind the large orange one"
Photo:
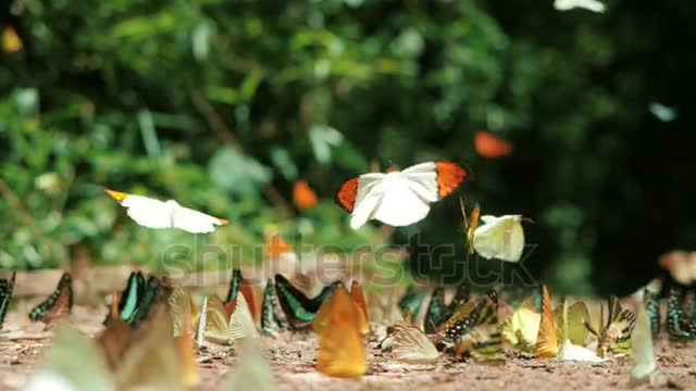
[[[293,330],[309,328],[324,300],[331,297],[340,285],[343,285],[340,281],[335,281],[324,287],[316,297],[310,299],[295,288],[287,278],[279,274],[275,275],[275,291],[290,328]]]

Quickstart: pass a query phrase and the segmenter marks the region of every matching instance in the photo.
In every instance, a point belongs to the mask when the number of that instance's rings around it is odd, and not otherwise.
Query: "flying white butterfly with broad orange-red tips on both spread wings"
[[[430,204],[451,194],[467,174],[450,162],[426,162],[386,174],[368,173],[345,181],[336,199],[350,212],[352,229],[370,219],[402,227],[425,218]]]

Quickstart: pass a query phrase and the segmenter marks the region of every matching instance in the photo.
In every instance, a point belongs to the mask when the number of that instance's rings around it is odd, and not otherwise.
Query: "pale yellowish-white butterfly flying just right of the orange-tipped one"
[[[481,216],[474,230],[474,251],[485,258],[518,262],[524,250],[522,215]]]

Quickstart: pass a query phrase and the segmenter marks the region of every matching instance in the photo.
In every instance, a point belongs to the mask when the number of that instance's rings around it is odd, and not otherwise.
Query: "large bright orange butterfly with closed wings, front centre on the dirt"
[[[316,370],[333,377],[359,378],[368,370],[361,336],[364,317],[360,308],[343,287],[334,291],[322,308],[325,326],[319,335]],[[319,323],[324,324],[323,318],[324,315]]]

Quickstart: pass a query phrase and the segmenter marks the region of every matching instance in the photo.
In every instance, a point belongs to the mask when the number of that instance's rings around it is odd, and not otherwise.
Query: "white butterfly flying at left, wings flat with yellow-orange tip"
[[[178,228],[191,234],[208,234],[226,219],[184,207],[174,200],[159,201],[142,195],[104,189],[107,194],[125,206],[128,216],[148,228]]]

